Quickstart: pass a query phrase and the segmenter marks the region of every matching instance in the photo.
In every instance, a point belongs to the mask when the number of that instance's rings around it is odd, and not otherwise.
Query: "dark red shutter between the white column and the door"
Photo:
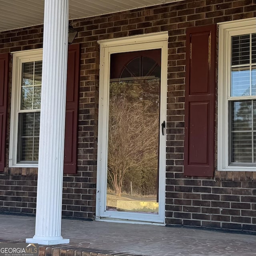
[[[68,46],[64,173],[76,173],[80,45]]]

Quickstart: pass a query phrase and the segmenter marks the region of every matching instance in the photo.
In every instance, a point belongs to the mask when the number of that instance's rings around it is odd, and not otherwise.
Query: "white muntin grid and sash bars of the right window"
[[[249,56],[249,61],[250,63],[247,64],[240,64],[240,65],[232,65],[232,36],[230,36],[230,52],[229,52],[229,93],[228,93],[228,165],[230,166],[255,166],[256,162],[254,161],[254,132],[256,132],[256,130],[254,130],[254,116],[253,116],[253,111],[254,111],[254,99],[256,99],[256,95],[252,95],[252,70],[254,70],[254,68],[256,68],[256,63],[252,63],[252,52],[254,51],[252,49],[252,35],[255,35],[256,33],[246,33],[250,35],[250,56]],[[242,34],[241,34],[242,35]],[[233,35],[233,36],[241,36],[239,34]],[[250,79],[250,96],[232,96],[232,68],[241,68],[241,67],[246,67],[249,66],[250,67],[250,75],[249,75],[249,79]],[[232,162],[232,133],[235,132],[243,132],[241,130],[239,131],[233,131],[232,130],[232,113],[230,113],[230,108],[231,108],[231,104],[234,101],[242,101],[242,100],[251,100],[252,104],[252,130],[250,131],[251,133],[251,142],[252,142],[252,162]],[[248,132],[248,130],[246,130],[245,132]],[[249,132],[248,132],[249,133]]]

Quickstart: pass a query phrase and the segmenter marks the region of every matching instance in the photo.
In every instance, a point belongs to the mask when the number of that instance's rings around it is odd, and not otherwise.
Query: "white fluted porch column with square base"
[[[44,0],[36,232],[27,243],[69,243],[61,236],[68,4],[68,0]]]

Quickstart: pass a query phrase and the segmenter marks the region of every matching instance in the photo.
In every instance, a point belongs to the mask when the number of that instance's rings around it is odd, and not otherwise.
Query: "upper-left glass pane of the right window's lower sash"
[[[232,131],[252,129],[252,101],[232,102]]]

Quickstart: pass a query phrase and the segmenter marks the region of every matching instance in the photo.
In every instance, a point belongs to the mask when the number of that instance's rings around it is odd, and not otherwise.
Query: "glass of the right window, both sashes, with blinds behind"
[[[230,96],[256,96],[256,33],[231,37]],[[230,99],[229,99],[230,100]],[[256,163],[256,100],[228,104],[229,161]],[[244,164],[243,164],[244,163]]]

